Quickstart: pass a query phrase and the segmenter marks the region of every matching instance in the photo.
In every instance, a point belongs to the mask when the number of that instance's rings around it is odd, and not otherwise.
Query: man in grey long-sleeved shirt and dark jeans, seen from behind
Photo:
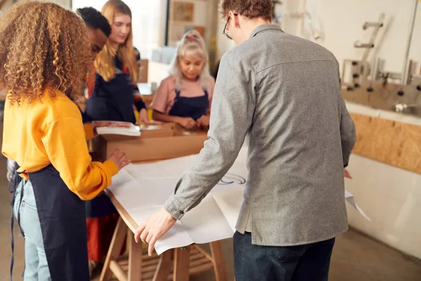
[[[237,46],[220,63],[209,139],[135,238],[152,254],[156,240],[218,184],[249,133],[236,280],[327,280],[335,237],[348,227],[344,167],[356,139],[338,61],[270,25],[270,0],[225,0],[221,11]]]

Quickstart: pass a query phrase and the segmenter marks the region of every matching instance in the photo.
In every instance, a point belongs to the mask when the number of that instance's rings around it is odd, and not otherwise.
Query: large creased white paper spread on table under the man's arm
[[[196,156],[186,156],[157,163],[128,165],[113,177],[109,191],[136,224],[141,224],[162,207],[168,196],[174,192],[180,175],[192,167],[195,159]],[[247,149],[243,148],[234,165],[208,196],[156,242],[158,254],[192,243],[232,238],[248,176],[246,159]],[[355,204],[354,196],[348,192],[346,196],[348,202],[366,217]]]

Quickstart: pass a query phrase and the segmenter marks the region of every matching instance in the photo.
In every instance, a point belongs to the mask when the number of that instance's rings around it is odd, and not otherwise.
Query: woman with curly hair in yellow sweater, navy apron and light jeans
[[[0,38],[8,41],[0,45],[0,89],[8,91],[2,153],[24,179],[13,196],[24,278],[88,281],[82,200],[106,189],[128,160],[114,151],[105,163],[92,162],[88,153],[72,102],[83,95],[93,60],[86,27],[71,11],[33,1],[0,17]]]

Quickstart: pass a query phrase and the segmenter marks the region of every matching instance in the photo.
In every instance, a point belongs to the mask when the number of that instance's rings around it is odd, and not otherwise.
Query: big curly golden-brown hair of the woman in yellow
[[[0,89],[11,104],[41,100],[47,86],[72,99],[83,95],[93,57],[78,15],[53,3],[18,3],[0,16],[0,38],[7,41],[0,44]]]

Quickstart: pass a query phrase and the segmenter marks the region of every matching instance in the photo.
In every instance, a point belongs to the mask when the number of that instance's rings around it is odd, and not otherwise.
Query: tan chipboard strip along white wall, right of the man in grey
[[[421,127],[351,114],[356,128],[353,153],[421,174]]]

